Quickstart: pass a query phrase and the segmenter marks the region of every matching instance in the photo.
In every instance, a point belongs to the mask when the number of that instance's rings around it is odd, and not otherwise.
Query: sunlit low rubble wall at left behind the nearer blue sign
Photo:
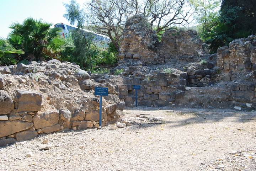
[[[50,60],[0,68],[0,146],[64,129],[98,127],[99,98],[94,87],[108,87],[102,126],[117,121],[124,108],[118,89],[97,83],[79,65]]]

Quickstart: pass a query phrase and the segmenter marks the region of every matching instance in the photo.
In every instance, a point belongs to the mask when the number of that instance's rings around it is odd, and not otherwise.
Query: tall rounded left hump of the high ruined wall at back
[[[157,62],[158,43],[158,38],[146,18],[143,15],[134,15],[127,20],[124,28],[119,63],[127,63],[130,59],[143,63]]]

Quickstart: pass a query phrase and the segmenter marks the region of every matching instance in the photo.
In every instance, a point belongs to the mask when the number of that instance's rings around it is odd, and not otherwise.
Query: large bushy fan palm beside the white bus
[[[51,49],[48,48],[49,44],[56,46],[64,44],[59,38],[61,28],[50,28],[51,26],[52,23],[29,17],[22,24],[12,23],[10,28],[13,30],[7,40],[15,48],[25,51],[25,59],[44,61],[46,57],[54,57]],[[55,46],[51,45],[51,47]]]

